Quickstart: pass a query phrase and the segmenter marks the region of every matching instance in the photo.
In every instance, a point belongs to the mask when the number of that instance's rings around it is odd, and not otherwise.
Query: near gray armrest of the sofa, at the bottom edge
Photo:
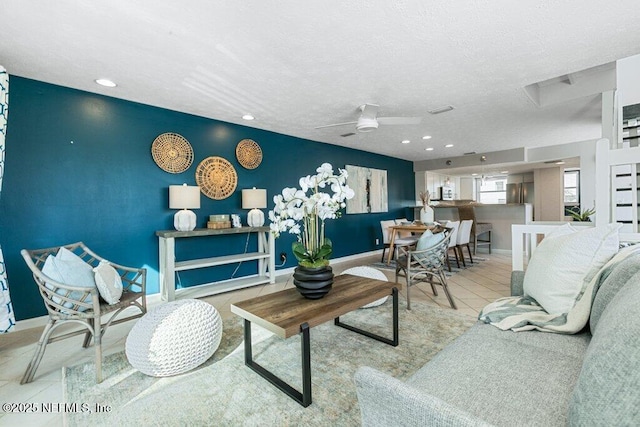
[[[355,382],[365,427],[489,426],[455,406],[373,368],[358,369]]]

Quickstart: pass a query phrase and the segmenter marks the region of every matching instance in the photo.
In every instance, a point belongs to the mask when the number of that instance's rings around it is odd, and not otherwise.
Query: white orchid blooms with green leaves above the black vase
[[[305,267],[321,267],[329,264],[333,252],[331,240],[325,237],[324,222],[339,218],[345,201],[353,198],[354,191],[347,185],[347,171],[323,163],[316,175],[300,178],[300,189],[285,188],[282,194],[273,197],[275,207],[269,211],[271,231],[275,237],[289,231],[296,234],[293,255]],[[328,188],[333,194],[320,191]]]

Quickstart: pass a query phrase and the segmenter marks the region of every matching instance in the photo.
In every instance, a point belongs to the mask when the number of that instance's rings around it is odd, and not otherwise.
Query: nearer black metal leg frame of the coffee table
[[[307,323],[300,325],[300,333],[302,340],[302,393],[253,360],[251,349],[251,322],[247,319],[244,320],[244,363],[258,375],[306,408],[311,405],[311,339],[309,336],[309,325]]]

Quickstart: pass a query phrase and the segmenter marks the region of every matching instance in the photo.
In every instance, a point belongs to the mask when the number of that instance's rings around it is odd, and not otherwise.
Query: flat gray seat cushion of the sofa
[[[408,384],[494,425],[565,425],[588,342],[478,323]]]

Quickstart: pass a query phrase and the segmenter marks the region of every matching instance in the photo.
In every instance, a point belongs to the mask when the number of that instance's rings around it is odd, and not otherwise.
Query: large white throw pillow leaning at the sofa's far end
[[[577,231],[570,224],[548,234],[533,252],[524,294],[550,314],[568,313],[580,292],[618,252],[621,224]]]

